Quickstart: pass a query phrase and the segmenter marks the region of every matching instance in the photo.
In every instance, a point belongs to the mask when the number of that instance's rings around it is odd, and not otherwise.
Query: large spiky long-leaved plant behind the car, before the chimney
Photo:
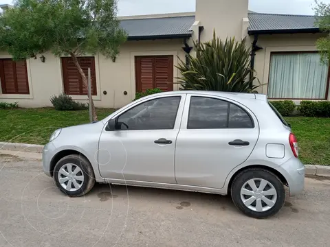
[[[179,59],[181,72],[178,82],[182,90],[226,91],[251,93],[260,86],[250,68],[250,49],[245,40],[234,38],[224,42],[217,38],[206,43],[194,44],[196,56],[188,55],[188,64]]]

